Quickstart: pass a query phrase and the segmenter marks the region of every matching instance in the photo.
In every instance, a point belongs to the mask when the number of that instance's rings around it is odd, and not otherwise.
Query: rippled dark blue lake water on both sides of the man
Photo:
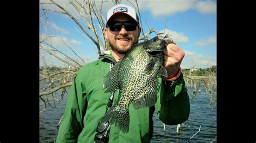
[[[217,105],[210,105],[208,95],[204,89],[200,90],[201,92],[190,101],[190,117],[181,124],[179,133],[176,133],[177,125],[165,125],[164,131],[163,123],[157,118],[157,113],[154,112],[154,133],[151,142],[217,142]],[[188,88],[188,92],[192,93],[192,91],[193,89]],[[60,98],[57,95],[55,97]],[[49,95],[48,97],[52,98]],[[56,108],[46,105],[46,110],[40,114],[40,142],[52,142],[56,138],[57,125],[63,115],[67,98],[68,94],[65,94],[62,100],[55,102]],[[51,105],[54,106],[54,103]],[[44,104],[40,104],[39,108],[42,110]]]

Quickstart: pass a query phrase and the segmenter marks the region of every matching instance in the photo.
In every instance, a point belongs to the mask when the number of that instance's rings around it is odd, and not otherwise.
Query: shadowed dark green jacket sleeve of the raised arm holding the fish
[[[181,124],[190,115],[190,98],[187,94],[183,74],[172,82],[161,80],[157,93],[156,111],[167,125]]]

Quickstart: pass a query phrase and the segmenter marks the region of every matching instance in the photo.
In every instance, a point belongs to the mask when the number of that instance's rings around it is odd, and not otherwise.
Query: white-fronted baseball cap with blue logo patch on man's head
[[[116,15],[119,15],[120,13],[124,13],[125,15],[130,16],[139,24],[139,17],[136,11],[131,6],[125,4],[115,5],[107,12],[106,24],[110,21],[111,18],[113,18]]]

